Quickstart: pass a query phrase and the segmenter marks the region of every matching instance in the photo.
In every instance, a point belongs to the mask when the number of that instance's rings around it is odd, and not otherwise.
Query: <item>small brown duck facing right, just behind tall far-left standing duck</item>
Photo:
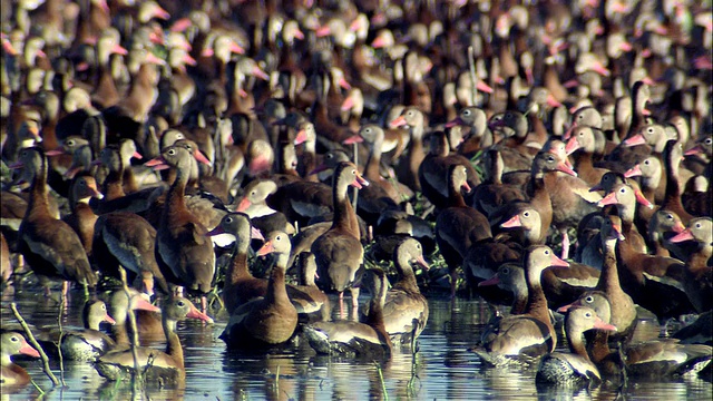
[[[88,174],[76,176],[72,179],[69,194],[69,207],[71,214],[62,217],[62,221],[77,233],[85,252],[91,256],[91,243],[94,241],[94,225],[97,215],[89,207],[89,199],[96,197],[101,199],[104,195],[97,189],[97,182]]]

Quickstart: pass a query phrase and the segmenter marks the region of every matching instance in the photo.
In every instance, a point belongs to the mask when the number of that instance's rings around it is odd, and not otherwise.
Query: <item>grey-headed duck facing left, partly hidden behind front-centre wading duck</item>
[[[252,238],[263,238],[263,235],[251,225],[248,216],[243,213],[228,213],[223,216],[221,224],[207,235],[228,233],[235,236],[233,260],[225,272],[223,284],[223,303],[228,313],[236,307],[267,292],[267,281],[255,278],[247,266],[247,251]]]

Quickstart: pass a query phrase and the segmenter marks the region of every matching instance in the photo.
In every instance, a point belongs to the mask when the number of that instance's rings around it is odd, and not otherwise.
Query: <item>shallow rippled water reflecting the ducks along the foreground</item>
[[[64,324],[78,326],[79,292],[64,314]],[[42,326],[57,323],[58,305],[35,291],[6,291],[2,296],[2,322],[14,319],[8,307],[16,301],[25,319]],[[178,335],[185,350],[186,387],[184,390],[148,388],[152,400],[510,400],[510,399],[602,399],[613,400],[617,387],[603,384],[574,394],[566,390],[535,387],[534,371],[484,368],[468,352],[490,316],[480,301],[430,300],[430,320],[419,340],[419,351],[397,353],[387,363],[354,361],[316,355],[306,342],[270,353],[227,352],[218,339],[226,319],[218,316],[214,325],[180,322]],[[651,321],[638,325],[637,339],[658,334]],[[155,346],[163,349],[163,344]],[[561,345],[560,345],[561,346]],[[47,400],[95,400],[130,398],[127,384],[107,382],[88,363],[66,363],[64,389],[51,389],[39,361],[20,361],[36,383],[47,391]],[[52,369],[59,375],[57,362]],[[3,389],[2,400],[39,398],[31,384],[25,389]],[[711,383],[696,375],[665,380],[631,380],[624,395],[632,400],[710,400]]]

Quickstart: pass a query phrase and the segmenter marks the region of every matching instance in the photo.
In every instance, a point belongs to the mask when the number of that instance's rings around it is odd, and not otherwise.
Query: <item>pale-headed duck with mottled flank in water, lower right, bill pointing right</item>
[[[569,353],[554,352],[543,358],[535,381],[538,384],[575,388],[600,383],[599,370],[589,359],[583,341],[584,332],[593,329],[614,332],[617,330],[616,326],[604,322],[590,307],[570,307],[565,317]]]

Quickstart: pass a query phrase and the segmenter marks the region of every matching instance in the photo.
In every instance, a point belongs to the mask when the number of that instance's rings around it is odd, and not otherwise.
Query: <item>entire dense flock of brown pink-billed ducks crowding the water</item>
[[[216,288],[228,348],[301,335],[320,353],[389,358],[416,350],[426,284],[511,302],[472,350],[487,364],[538,361],[538,383],[710,364],[713,26],[702,3],[10,9],[1,276],[31,270],[62,296],[84,287],[86,329],[65,331],[59,350],[58,333],[39,336],[65,359],[121,380],[135,351],[146,380],[182,382],[176,322],[212,323]],[[442,257],[442,280],[418,277],[424,255]],[[96,292],[121,270],[133,290],[110,294],[109,315]],[[371,301],[358,316],[362,287]],[[354,320],[332,321],[325,292],[342,317],[349,292]],[[633,343],[637,305],[662,324],[700,317],[675,339]],[[554,310],[568,353],[554,352]],[[165,352],[131,349],[129,311],[139,339],[165,339]],[[27,384],[13,354],[38,356],[4,331],[2,383]]]

